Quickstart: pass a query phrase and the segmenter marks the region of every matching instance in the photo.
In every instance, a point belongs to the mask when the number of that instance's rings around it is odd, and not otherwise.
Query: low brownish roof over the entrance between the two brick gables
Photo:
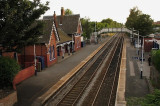
[[[72,37],[68,36],[62,29],[58,28],[58,34],[60,37],[60,42],[58,44],[68,42],[72,40]]]

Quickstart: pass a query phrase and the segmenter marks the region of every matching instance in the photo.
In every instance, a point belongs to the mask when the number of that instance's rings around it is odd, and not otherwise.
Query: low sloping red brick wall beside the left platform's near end
[[[35,73],[34,66],[21,70],[13,79],[13,88],[16,90],[16,84],[24,81],[25,79],[33,76]]]

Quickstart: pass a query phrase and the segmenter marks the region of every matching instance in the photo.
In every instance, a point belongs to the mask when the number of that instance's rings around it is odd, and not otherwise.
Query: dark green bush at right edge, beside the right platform
[[[152,63],[156,67],[158,71],[160,71],[160,50],[152,50],[151,51]]]

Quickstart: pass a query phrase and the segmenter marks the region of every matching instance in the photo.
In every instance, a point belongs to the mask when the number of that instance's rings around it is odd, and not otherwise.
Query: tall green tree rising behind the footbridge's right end
[[[138,30],[140,35],[146,36],[153,32],[153,20],[150,15],[143,14],[137,7],[130,10],[130,15],[125,23],[127,28]]]

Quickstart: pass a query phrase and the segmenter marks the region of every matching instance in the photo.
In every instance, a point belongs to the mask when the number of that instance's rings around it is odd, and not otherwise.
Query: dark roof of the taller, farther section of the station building
[[[43,19],[53,19],[53,16],[44,16]],[[62,25],[60,24],[61,16],[56,17],[57,24],[59,27],[67,34],[73,34],[77,32],[77,27],[79,23],[80,15],[64,15],[62,20]]]

